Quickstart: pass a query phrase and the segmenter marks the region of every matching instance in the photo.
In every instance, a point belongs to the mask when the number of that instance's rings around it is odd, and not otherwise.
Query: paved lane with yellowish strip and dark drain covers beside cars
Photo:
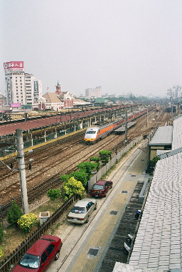
[[[59,260],[51,264],[48,272],[100,271],[137,182],[143,183],[148,178],[143,173],[146,153],[138,147],[131,150],[107,177],[112,180],[113,188],[107,198],[97,200],[97,210],[93,212],[89,223],[70,224],[65,217],[63,224],[56,229],[54,235],[60,236],[63,247]]]

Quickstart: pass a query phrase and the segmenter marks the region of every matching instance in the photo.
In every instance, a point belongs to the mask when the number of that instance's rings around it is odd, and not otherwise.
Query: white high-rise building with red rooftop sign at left
[[[36,80],[33,75],[24,72],[23,61],[4,63],[4,70],[8,105],[31,105],[36,98],[41,97],[41,80]],[[35,81],[38,81],[39,86],[36,91]]]

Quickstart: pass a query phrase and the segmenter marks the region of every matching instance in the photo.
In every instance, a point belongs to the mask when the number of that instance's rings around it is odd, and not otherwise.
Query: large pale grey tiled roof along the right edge
[[[156,163],[129,260],[131,265],[160,271],[182,269],[181,135],[182,115],[179,115],[173,122],[173,150]]]

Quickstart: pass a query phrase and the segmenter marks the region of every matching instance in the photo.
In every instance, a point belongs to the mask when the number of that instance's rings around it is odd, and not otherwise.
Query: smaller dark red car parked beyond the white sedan
[[[99,180],[90,189],[90,194],[93,197],[106,197],[109,189],[112,188],[112,182],[107,180]]]

